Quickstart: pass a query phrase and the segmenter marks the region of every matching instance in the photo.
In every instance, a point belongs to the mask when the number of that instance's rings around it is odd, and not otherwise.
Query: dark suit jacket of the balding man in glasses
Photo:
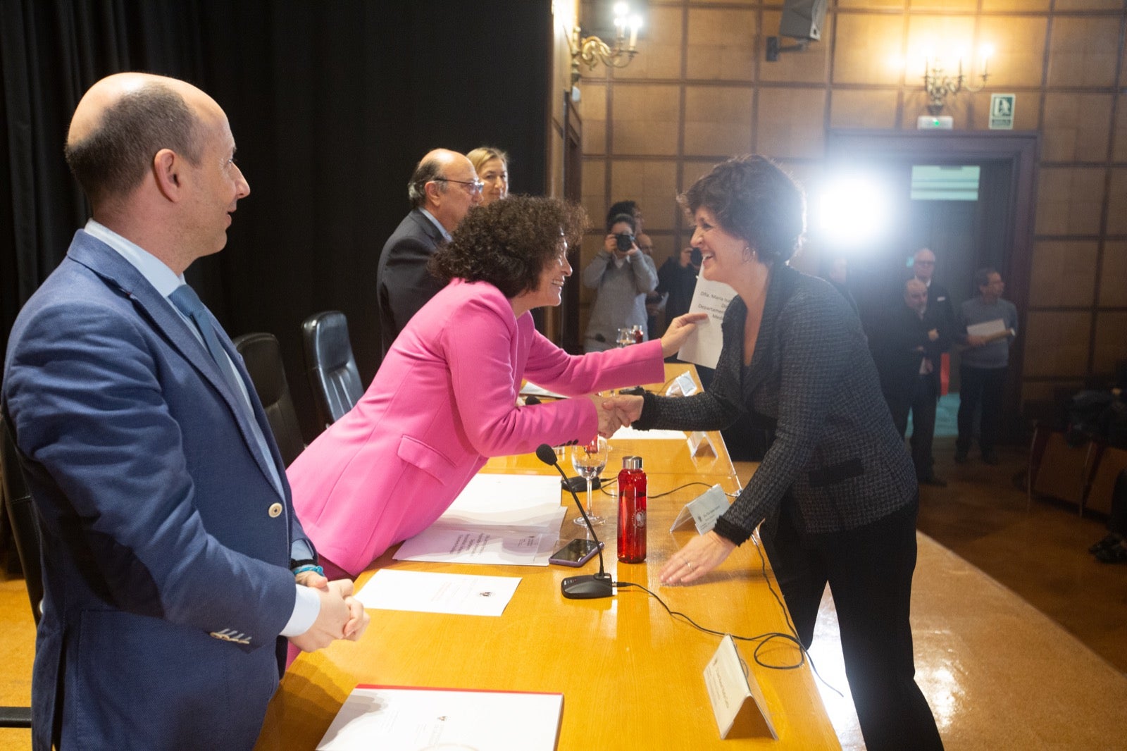
[[[442,232],[418,209],[399,222],[380,254],[376,297],[380,302],[380,338],[383,354],[411,316],[445,286],[426,270]]]

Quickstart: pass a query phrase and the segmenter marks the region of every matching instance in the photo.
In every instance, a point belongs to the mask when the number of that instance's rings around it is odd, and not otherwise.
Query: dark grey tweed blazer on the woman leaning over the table
[[[807,533],[863,527],[912,503],[912,460],[880,394],[857,315],[827,282],[777,264],[752,364],[743,364],[747,308],[724,317],[724,348],[708,391],[647,394],[641,430],[767,426],[772,442],[747,487],[717,523],[743,542],[781,509]]]

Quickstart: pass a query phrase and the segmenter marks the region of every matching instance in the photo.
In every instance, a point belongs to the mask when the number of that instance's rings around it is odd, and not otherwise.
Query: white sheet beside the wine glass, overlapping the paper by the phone
[[[476,475],[433,527],[559,532],[567,509],[560,505],[559,477]]]

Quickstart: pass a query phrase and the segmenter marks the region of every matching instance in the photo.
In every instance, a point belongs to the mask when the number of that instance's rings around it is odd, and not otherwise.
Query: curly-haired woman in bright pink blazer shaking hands
[[[450,283],[407,324],[367,392],[290,466],[293,503],[326,573],[364,571],[428,527],[488,457],[587,442],[616,427],[593,392],[665,380],[701,316],[660,341],[573,356],[533,327],[571,275],[582,209],[513,196],[472,209],[432,271]],[[518,407],[521,380],[575,398]]]

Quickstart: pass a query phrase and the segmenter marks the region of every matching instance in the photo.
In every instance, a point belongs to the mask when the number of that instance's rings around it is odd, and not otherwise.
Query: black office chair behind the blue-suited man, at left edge
[[[0,491],[3,505],[11,523],[16,555],[24,569],[27,583],[27,599],[32,604],[32,617],[38,626],[43,615],[43,568],[39,560],[39,521],[32,494],[24,481],[24,471],[16,454],[16,441],[8,430],[8,421],[0,418]],[[30,707],[0,707],[0,727],[30,727]]]

